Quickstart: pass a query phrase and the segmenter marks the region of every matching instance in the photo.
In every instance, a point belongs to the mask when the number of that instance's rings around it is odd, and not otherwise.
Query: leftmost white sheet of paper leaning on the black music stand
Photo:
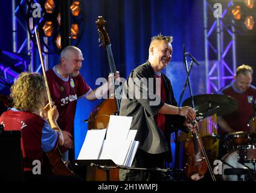
[[[99,159],[105,135],[106,128],[88,130],[77,159]]]

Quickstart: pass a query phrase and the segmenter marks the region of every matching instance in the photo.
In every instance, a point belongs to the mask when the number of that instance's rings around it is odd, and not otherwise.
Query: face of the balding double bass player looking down
[[[65,73],[71,77],[77,77],[80,68],[82,68],[83,54],[78,50],[71,50],[65,58],[62,58],[62,63],[65,67]]]

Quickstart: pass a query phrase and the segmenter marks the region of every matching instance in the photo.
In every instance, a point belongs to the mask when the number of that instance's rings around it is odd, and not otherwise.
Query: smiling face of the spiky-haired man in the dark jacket
[[[171,61],[173,48],[166,40],[155,40],[151,43],[149,52],[149,62],[155,71],[160,72]]]

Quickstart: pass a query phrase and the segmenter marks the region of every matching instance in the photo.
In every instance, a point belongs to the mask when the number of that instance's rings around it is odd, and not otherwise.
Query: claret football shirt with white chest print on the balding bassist
[[[51,98],[59,111],[57,124],[60,129],[73,135],[77,99],[88,95],[91,92],[91,88],[86,84],[81,74],[78,74],[77,77],[60,77],[56,71],[56,66],[46,71],[46,76]],[[62,152],[68,150],[64,147],[60,149]]]

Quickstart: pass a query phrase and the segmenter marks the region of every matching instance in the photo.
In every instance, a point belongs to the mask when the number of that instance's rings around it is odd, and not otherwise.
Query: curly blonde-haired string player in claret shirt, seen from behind
[[[30,172],[33,160],[40,160],[43,172],[43,151],[63,145],[63,135],[56,122],[59,117],[56,106],[45,106],[47,96],[42,75],[23,72],[11,86],[10,96],[13,108],[1,115],[0,123],[4,130],[21,130],[24,171]]]

